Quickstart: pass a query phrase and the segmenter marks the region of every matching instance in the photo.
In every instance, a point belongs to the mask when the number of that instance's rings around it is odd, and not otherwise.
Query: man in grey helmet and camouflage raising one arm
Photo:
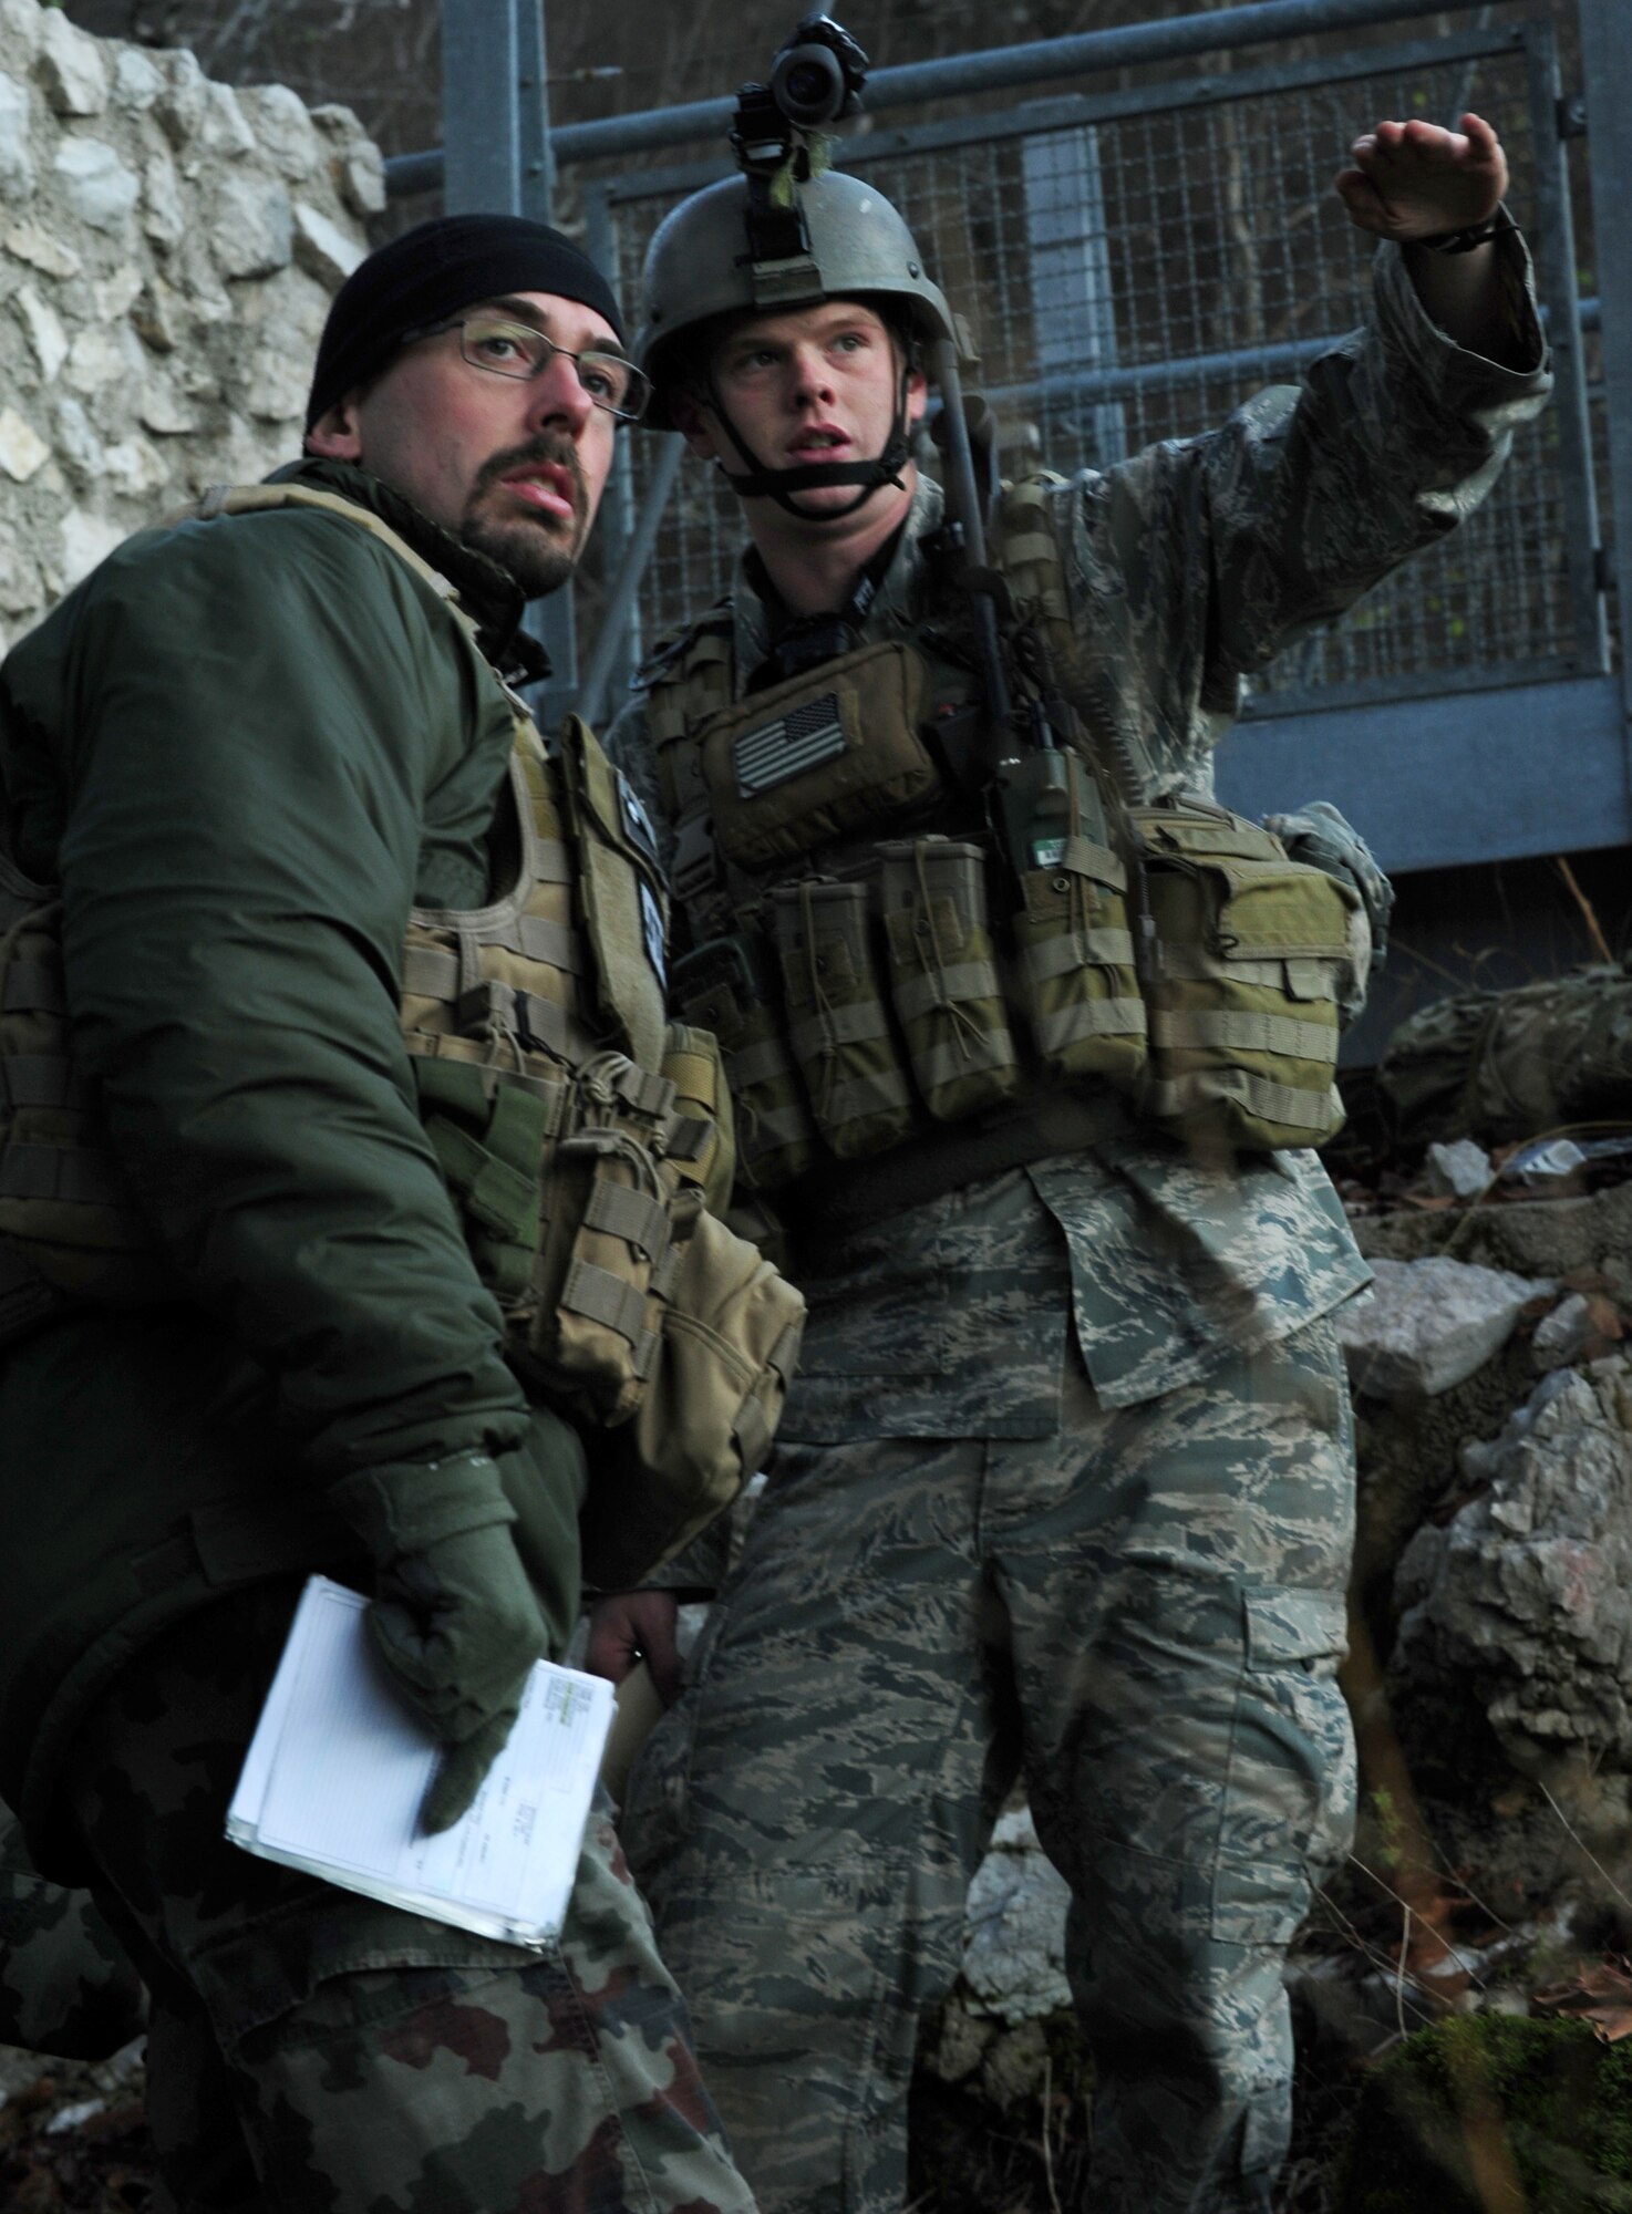
[[[1207,877],[1207,839],[1238,886],[1284,868],[1209,813],[1242,675],[1461,520],[1546,401],[1506,162],[1477,117],[1360,139],[1337,190],[1386,241],[1366,328],[1207,436],[1008,494],[996,662],[906,445],[950,310],[877,193],[791,175],[782,208],[753,179],[695,195],[647,268],[658,410],[751,545],[611,746],[673,824],[682,1007],[722,1030],[810,1320],[744,1554],[631,1780],[631,1853],[760,2203],[884,2214],[919,2013],[1023,1780],[1072,1886],[1094,2203],[1267,2210],[1282,1959],[1353,1813],[1331,1315],[1366,1266],[1275,1122],[1320,1136],[1313,1094],[1236,1072],[1220,1092],[1269,1105],[1220,1140],[1092,1054],[1140,994],[1213,974],[1129,952],[1163,824],[1202,857],[1169,883]],[[963,744],[994,666],[1045,768]],[[1005,815],[1005,773],[1065,795],[1058,835]],[[1120,983],[1089,990],[1094,963]],[[1238,999],[1313,992],[1295,968]],[[1295,1061],[1318,1027],[1236,1034]],[[640,1649],[675,1683],[673,1599],[605,1599],[591,1665]]]

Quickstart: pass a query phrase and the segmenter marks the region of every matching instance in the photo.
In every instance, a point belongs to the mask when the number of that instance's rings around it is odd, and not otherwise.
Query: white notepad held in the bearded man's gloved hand
[[[359,1592],[308,1579],[226,1835],[345,1891],[483,1937],[545,1944],[567,1913],[611,1685],[538,1660],[474,1804],[427,1838],[419,1809],[438,1747],[394,1689],[365,1612]]]

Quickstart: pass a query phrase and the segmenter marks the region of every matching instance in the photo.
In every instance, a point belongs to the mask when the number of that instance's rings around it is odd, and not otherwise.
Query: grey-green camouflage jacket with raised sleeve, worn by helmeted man
[[[1211,751],[1240,711],[1242,677],[1486,496],[1515,425],[1550,390],[1517,235],[1499,241],[1499,275],[1530,370],[1446,339],[1386,246],[1371,321],[1302,387],[1269,387],[1213,432],[1061,483],[1052,527],[1072,613],[1154,793],[1211,795]],[[864,638],[923,618],[921,540],[939,514],[926,480]],[[746,573],[731,609],[742,689],[771,642]],[[640,702],[609,751],[655,799]],[[1284,1337],[1368,1280],[1313,1153],[1218,1173],[1132,1129],[996,1182],[797,1255],[810,1317],[784,1437],[1043,1437],[1058,1424],[1067,1322],[1101,1399],[1132,1406],[1207,1377],[1231,1348]]]

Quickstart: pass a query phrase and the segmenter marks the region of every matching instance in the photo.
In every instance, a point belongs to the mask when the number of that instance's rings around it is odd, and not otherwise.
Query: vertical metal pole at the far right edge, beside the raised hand
[[[1632,11],[1625,0],[1581,0],[1581,69],[1588,95],[1592,228],[1603,332],[1603,405],[1610,421],[1614,582],[1621,607],[1621,704],[1632,775]]]

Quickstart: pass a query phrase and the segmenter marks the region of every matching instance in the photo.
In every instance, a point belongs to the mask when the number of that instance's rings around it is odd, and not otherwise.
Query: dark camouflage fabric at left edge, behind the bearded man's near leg
[[[0,1807],[0,2044],[104,2061],[144,2021],[142,1977],[91,1895],[40,1875]]]

